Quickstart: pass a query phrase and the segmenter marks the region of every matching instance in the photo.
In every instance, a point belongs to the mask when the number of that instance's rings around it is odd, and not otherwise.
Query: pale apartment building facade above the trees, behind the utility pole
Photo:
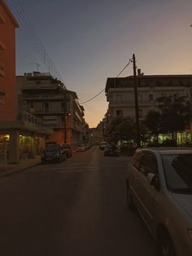
[[[132,117],[135,119],[133,76],[107,78],[107,117]],[[155,99],[163,95],[173,98],[185,95],[191,102],[192,75],[142,75],[137,77],[139,117],[143,119],[156,106]]]

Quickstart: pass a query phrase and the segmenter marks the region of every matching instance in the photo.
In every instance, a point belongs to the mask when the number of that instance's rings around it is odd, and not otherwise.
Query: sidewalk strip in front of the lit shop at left
[[[0,177],[6,177],[11,174],[20,172],[21,170],[28,169],[33,166],[37,166],[41,163],[41,157],[35,157],[33,159],[27,159],[21,161],[19,164],[7,164],[7,169],[0,167]]]

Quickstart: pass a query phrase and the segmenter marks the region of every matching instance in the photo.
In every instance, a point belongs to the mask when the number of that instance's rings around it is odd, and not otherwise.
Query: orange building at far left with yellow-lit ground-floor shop
[[[42,127],[40,118],[19,109],[15,77],[18,27],[6,1],[0,0],[0,155],[10,163],[40,155],[51,132]]]

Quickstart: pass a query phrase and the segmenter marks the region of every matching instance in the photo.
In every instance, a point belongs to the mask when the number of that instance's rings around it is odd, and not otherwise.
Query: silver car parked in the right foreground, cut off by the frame
[[[129,165],[127,201],[164,256],[192,255],[192,150],[138,149]]]

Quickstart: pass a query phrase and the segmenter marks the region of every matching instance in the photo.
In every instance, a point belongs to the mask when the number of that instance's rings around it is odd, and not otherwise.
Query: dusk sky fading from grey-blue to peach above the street
[[[145,74],[192,73],[191,0],[16,1],[80,103],[116,77],[133,53]],[[31,63],[41,60],[21,28],[16,47],[17,74],[35,70]],[[47,72],[42,63],[40,71]],[[130,65],[122,77],[132,73]],[[107,111],[104,92],[84,107],[89,126],[97,126]]]

